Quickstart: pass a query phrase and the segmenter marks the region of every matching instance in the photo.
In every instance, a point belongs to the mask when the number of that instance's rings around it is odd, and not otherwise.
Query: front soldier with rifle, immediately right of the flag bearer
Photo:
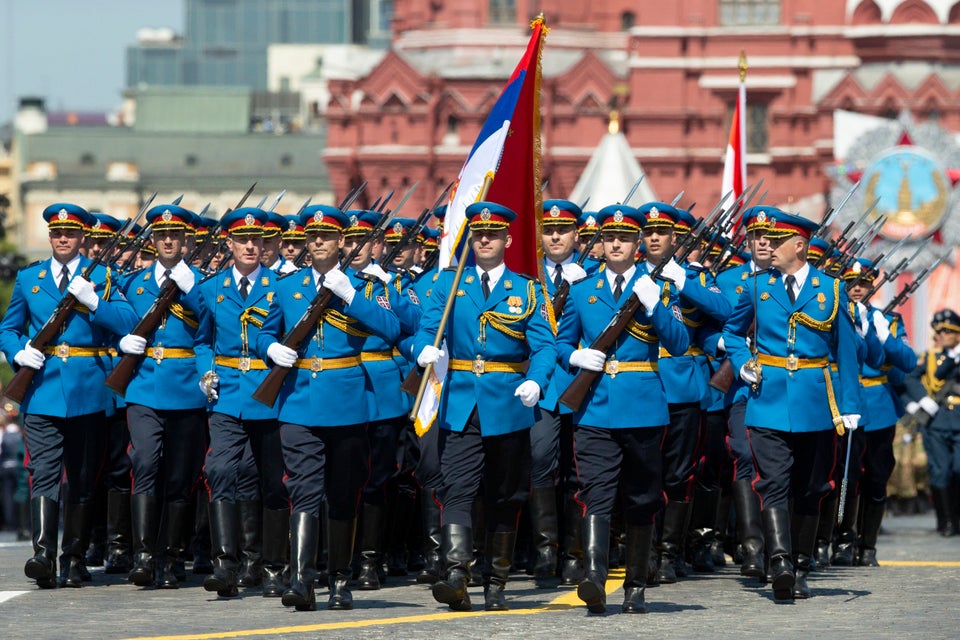
[[[667,397],[657,373],[661,345],[671,354],[689,346],[675,293],[661,290],[647,263],[635,263],[647,218],[625,205],[598,214],[606,268],[570,288],[560,320],[559,361],[571,372],[603,372],[574,414],[574,455],[583,509],[585,576],[577,595],[591,613],[606,610],[610,518],[623,501],[626,576],[623,613],[645,613],[644,590],[653,519],[663,507],[660,443],[669,423]],[[625,302],[643,306],[610,354],[588,348]]]

